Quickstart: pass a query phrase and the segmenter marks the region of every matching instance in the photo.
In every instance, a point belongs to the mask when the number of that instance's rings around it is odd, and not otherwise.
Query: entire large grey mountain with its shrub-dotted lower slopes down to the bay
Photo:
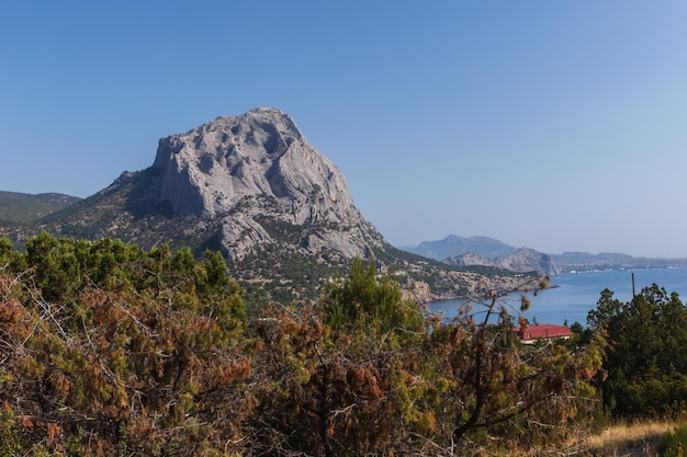
[[[313,298],[356,256],[374,259],[424,300],[522,282],[502,269],[451,266],[392,247],[354,206],[338,168],[277,108],[221,116],[162,138],[151,167],[61,202],[47,215],[14,205],[0,236],[18,242],[46,230],[144,249],[188,245],[196,255],[218,250],[248,294],[266,299]],[[26,225],[14,222],[18,215]]]

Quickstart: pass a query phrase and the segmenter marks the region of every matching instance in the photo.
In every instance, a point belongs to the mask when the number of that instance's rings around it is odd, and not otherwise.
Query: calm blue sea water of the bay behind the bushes
[[[634,273],[637,293],[656,283],[665,287],[668,293],[678,293],[683,302],[687,300],[687,269],[566,273],[551,278],[551,282],[560,287],[541,290],[536,296],[529,294],[531,307],[525,317],[530,322],[560,324],[579,322],[586,325],[587,312],[596,308],[596,302],[605,288],[612,290],[613,297],[621,301],[629,301],[632,298],[632,273]],[[520,307],[519,297],[516,294],[506,298],[515,310]],[[461,300],[450,300],[431,304],[429,311],[443,313],[450,318],[455,316],[461,302]]]

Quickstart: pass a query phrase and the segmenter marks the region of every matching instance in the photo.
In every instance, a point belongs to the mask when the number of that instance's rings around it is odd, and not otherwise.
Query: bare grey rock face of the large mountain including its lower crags
[[[174,213],[223,219],[222,244],[234,259],[279,241],[267,227],[275,221],[308,228],[299,243],[311,253],[326,248],[352,258],[383,241],[338,168],[277,108],[221,116],[162,138],[153,168],[159,199]]]

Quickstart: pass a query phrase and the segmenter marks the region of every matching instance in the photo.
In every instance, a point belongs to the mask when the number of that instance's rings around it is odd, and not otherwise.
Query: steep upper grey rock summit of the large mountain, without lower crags
[[[212,217],[245,197],[270,196],[290,208],[294,224],[338,222],[353,206],[337,167],[277,108],[221,116],[162,138],[153,167],[164,176],[160,198],[182,215]]]

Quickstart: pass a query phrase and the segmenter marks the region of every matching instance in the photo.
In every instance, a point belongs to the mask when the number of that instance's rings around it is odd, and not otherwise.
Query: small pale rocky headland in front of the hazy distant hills
[[[519,273],[539,272],[547,275],[556,274],[556,267],[549,254],[529,248],[522,248],[514,254],[496,259],[487,259],[469,252],[449,258],[444,260],[444,263],[453,266],[494,266]]]

